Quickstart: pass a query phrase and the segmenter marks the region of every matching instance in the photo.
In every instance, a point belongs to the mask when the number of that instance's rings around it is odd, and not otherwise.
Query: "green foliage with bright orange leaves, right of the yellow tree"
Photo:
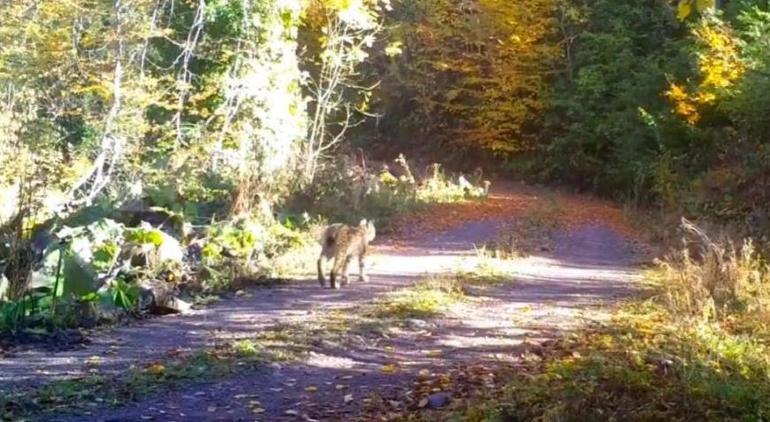
[[[764,213],[767,5],[564,4],[566,72],[533,169],[636,204]],[[681,16],[680,16],[681,17]]]

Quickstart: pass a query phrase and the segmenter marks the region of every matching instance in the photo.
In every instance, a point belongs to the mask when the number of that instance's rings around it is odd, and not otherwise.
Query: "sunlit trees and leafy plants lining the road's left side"
[[[324,224],[487,193],[343,142],[389,5],[92,6],[0,6],[2,344],[307,275]]]

